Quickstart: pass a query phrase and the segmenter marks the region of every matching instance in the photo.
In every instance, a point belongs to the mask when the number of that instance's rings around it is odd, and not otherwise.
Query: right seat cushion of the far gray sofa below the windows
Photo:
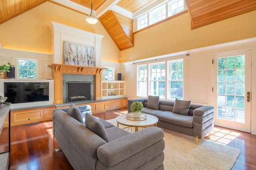
[[[161,113],[158,113],[156,117],[159,121],[164,121],[184,127],[193,127],[193,116],[190,115],[181,115],[177,113],[172,113],[171,111],[163,111]]]

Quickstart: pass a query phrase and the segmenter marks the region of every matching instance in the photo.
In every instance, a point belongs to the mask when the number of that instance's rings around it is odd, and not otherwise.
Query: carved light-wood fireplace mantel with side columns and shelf
[[[52,78],[54,79],[54,104],[63,104],[62,100],[62,74],[90,74],[95,75],[95,99],[101,100],[101,72],[106,68],[86,67],[66,64],[50,64]]]

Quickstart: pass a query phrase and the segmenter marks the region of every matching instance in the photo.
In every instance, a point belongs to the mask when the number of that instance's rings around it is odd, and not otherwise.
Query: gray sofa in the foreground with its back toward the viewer
[[[84,126],[73,113],[62,109],[53,112],[54,137],[75,170],[164,169],[162,129],[149,127],[129,133],[89,115],[86,113]],[[103,126],[108,142],[98,134],[98,129],[89,129],[89,125],[91,128],[97,124]]]

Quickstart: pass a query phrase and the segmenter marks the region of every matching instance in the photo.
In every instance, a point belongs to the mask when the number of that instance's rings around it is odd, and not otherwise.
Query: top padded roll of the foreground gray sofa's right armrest
[[[127,161],[132,162],[136,169],[144,162],[158,156],[164,150],[164,131],[158,127],[148,127],[141,131],[126,135],[109,143],[100,146],[97,150],[97,156],[100,162],[106,167],[127,166]],[[153,146],[153,147],[151,147]],[[126,167],[127,168],[127,167]]]

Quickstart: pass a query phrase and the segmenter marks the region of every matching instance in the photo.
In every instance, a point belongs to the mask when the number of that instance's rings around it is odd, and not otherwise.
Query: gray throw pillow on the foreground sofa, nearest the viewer
[[[88,129],[93,131],[96,135],[109,142],[108,134],[104,128],[104,125],[93,115],[85,114],[85,125]]]

